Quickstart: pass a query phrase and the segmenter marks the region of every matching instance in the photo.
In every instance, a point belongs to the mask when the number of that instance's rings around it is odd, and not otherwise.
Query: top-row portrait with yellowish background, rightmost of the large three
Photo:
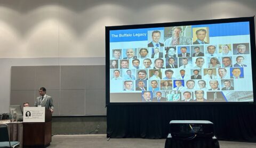
[[[193,28],[193,44],[209,43],[209,27]]]

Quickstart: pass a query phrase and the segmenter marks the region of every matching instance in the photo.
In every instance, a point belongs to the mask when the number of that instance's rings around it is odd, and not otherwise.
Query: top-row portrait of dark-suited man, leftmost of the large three
[[[164,41],[163,30],[150,30],[150,31],[148,31],[148,47],[164,46],[163,41]]]

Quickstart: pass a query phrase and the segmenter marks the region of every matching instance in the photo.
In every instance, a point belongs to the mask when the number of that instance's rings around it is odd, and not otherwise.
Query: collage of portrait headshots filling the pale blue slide
[[[223,43],[209,32],[209,27],[165,27],[148,30],[142,47],[131,42],[131,48],[111,49],[110,92],[141,93],[140,102],[237,101],[227,96],[252,77],[246,73],[250,40]]]

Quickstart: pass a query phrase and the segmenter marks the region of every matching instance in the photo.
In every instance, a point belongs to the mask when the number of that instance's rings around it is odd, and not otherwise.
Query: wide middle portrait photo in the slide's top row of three
[[[165,46],[191,45],[191,26],[165,27]]]

